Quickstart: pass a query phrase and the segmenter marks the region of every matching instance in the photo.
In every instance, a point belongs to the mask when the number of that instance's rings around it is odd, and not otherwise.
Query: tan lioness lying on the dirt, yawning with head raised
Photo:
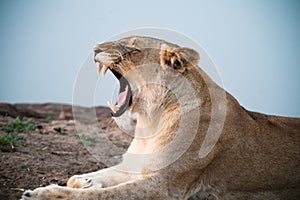
[[[300,199],[300,120],[249,112],[197,67],[199,54],[149,37],[97,44],[98,71],[120,80],[112,115],[136,113],[112,168],[76,175],[33,199]]]

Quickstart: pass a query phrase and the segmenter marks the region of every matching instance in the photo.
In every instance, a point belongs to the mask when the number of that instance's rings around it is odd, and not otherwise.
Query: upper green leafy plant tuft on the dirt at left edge
[[[31,124],[31,119],[25,121],[20,120],[19,117],[14,119],[11,123],[3,126],[1,129],[7,133],[21,133],[35,130],[35,126]]]

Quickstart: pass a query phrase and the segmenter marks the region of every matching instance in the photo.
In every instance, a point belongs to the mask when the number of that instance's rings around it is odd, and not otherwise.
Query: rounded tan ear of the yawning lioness
[[[197,66],[200,60],[199,54],[190,48],[170,48],[163,44],[160,51],[160,64],[166,67],[172,67],[180,73]]]

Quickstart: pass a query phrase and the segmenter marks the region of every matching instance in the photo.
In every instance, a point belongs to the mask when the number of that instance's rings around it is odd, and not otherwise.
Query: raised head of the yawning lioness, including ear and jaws
[[[128,37],[93,49],[98,72],[105,75],[109,69],[120,82],[117,103],[109,103],[113,117],[126,110],[149,113],[147,109],[166,108],[175,99],[166,87],[174,85],[176,77],[192,73],[200,59],[193,49],[150,37]]]

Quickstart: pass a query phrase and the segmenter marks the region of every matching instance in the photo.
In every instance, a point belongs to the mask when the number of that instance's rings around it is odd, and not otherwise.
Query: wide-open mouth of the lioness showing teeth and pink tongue
[[[108,107],[111,109],[111,114],[113,117],[121,116],[127,108],[131,105],[132,102],[132,95],[131,95],[131,87],[124,76],[118,73],[116,70],[113,69],[112,64],[110,66],[106,66],[103,63],[97,61],[96,62],[97,71],[98,73],[102,70],[102,75],[105,76],[108,69],[114,74],[114,76],[119,80],[120,83],[120,90],[118,100],[115,104],[107,102]]]

